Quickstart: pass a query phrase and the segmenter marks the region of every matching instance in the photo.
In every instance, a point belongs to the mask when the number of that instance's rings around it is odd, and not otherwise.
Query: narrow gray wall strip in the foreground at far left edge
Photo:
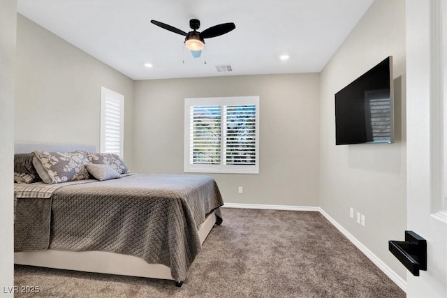
[[[14,285],[14,70],[17,1],[0,1],[0,289]]]

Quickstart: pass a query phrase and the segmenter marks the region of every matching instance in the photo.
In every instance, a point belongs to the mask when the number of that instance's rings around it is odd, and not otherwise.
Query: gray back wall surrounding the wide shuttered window
[[[319,86],[318,74],[137,81],[135,171],[183,172],[184,98],[260,96],[259,174],[211,174],[223,200],[316,207]]]

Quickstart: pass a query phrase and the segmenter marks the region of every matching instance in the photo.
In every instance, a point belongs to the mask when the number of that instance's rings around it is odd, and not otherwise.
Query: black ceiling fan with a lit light
[[[197,29],[200,28],[200,21],[197,19],[191,19],[189,20],[189,27],[191,27],[193,31],[189,31],[188,33],[186,33],[185,31],[182,31],[180,29],[177,29],[175,27],[172,27],[168,24],[156,20],[151,20],[151,23],[168,31],[180,34],[182,36],[186,36],[184,38],[184,45],[188,50],[191,50],[191,53],[193,54],[194,58],[200,57],[203,45],[205,44],[205,38],[221,36],[236,28],[234,23],[224,23],[205,29],[202,32],[199,32],[197,31]]]

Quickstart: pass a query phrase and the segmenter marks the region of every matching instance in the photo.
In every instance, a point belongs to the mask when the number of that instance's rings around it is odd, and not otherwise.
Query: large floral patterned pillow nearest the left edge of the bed
[[[34,151],[33,164],[46,184],[89,179],[89,160],[80,152]]]

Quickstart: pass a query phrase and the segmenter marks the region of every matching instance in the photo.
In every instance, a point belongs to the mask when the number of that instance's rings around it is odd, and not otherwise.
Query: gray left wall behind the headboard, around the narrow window
[[[17,14],[15,140],[99,150],[101,86],[124,95],[124,158],[132,167],[133,80]]]

